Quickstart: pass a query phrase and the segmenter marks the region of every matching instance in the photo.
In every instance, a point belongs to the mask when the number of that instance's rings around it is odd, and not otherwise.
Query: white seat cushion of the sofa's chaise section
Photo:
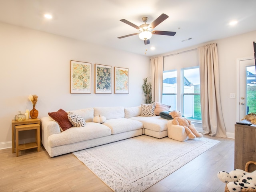
[[[137,120],[143,123],[143,128],[150,129],[152,131],[164,131],[167,130],[167,119],[163,119],[160,116],[154,116],[154,117],[143,117],[143,116],[137,116],[137,117],[131,117],[129,119]]]

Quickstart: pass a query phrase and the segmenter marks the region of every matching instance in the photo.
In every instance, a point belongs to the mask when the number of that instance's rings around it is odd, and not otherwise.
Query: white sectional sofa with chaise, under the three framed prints
[[[156,138],[168,136],[169,120],[160,116],[141,116],[141,106],[94,107],[70,112],[84,118],[85,126],[72,126],[62,131],[59,124],[49,116],[41,118],[42,144],[51,157],[142,134]],[[104,116],[106,121],[93,122],[94,117],[99,115]],[[183,134],[182,131],[180,133]]]

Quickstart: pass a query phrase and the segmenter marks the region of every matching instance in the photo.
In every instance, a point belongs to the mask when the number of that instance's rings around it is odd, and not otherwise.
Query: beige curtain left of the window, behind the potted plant
[[[163,92],[163,57],[151,58],[152,101],[162,102]]]

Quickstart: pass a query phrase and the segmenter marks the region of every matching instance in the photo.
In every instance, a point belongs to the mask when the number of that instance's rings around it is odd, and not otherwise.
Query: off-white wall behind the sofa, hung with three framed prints
[[[137,106],[144,102],[143,78],[150,58],[86,42],[0,23],[0,148],[10,147],[11,121],[31,110],[38,95],[39,118],[60,108]],[[92,93],[70,94],[70,60],[92,63]],[[94,94],[94,64],[129,68],[129,94]],[[113,72],[114,79],[114,72]],[[114,82],[112,82],[114,86]]]

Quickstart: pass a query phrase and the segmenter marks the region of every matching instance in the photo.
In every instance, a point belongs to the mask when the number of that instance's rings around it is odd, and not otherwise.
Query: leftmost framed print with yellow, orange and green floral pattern
[[[70,61],[71,93],[91,93],[91,63]]]

